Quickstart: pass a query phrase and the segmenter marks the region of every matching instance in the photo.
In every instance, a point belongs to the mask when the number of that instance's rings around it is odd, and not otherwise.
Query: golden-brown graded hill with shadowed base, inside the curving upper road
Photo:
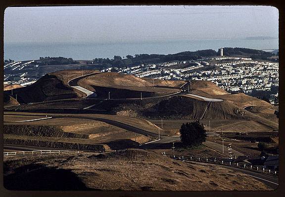
[[[184,81],[139,78],[134,75],[117,72],[104,72],[80,79],[81,87],[96,92],[97,98],[124,99],[161,96],[177,93]],[[154,87],[153,87],[154,85]]]

